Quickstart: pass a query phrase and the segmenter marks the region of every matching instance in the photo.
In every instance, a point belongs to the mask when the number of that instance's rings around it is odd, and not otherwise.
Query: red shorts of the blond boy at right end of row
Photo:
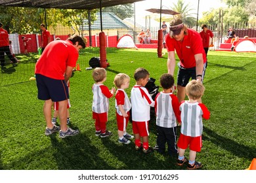
[[[202,136],[190,137],[190,136],[183,135],[181,133],[177,145],[179,148],[182,148],[182,149],[188,148],[188,145],[189,145],[190,150],[200,152],[202,148]]]

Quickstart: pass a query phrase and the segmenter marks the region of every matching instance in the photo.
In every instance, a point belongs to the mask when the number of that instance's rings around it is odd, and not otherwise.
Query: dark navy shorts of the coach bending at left
[[[37,98],[43,101],[51,99],[54,102],[70,98],[65,80],[56,80],[47,76],[35,75],[37,81]]]

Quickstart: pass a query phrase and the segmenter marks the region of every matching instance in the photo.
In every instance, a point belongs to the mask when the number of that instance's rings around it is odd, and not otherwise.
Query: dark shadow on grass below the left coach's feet
[[[84,133],[79,133],[74,137],[66,137],[61,142],[57,137],[51,138],[53,154],[58,163],[59,170],[87,170],[87,169],[114,169],[100,158],[100,150],[91,145],[91,140]]]

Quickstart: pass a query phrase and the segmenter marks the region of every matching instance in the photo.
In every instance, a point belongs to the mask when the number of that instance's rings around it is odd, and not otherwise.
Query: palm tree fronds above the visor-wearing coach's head
[[[177,4],[173,3],[172,10],[179,12],[180,14],[175,15],[175,18],[181,18],[182,22],[186,25],[195,25],[196,24],[196,13],[191,13],[193,8],[190,7],[190,4],[185,4],[184,0],[178,0]],[[194,15],[194,16],[193,16]]]

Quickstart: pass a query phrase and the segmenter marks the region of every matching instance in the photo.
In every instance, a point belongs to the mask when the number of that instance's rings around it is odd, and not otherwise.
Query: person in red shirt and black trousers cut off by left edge
[[[7,54],[13,64],[17,63],[16,59],[11,54],[9,44],[9,34],[3,29],[3,24],[0,22],[0,62],[2,68],[6,68],[5,54]]]

